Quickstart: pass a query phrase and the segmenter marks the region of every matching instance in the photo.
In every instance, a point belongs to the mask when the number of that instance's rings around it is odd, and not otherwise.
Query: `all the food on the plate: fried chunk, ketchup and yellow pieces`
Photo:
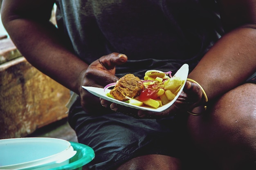
[[[107,93],[108,97],[136,106],[158,108],[171,102],[184,82],[179,77],[172,77],[171,72],[149,70],[146,71],[144,80],[127,74],[117,83],[107,85],[104,90],[114,86],[110,93]]]

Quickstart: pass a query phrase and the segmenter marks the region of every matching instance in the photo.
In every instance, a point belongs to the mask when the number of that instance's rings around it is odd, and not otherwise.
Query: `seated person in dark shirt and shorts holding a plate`
[[[2,22],[33,66],[73,92],[70,126],[95,152],[88,169],[256,168],[256,1],[58,0],[57,26],[54,2],[3,0]],[[160,113],[81,87],[185,63],[183,92]]]

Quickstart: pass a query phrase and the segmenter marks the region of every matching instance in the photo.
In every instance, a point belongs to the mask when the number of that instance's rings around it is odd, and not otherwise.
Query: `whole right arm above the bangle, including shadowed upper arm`
[[[189,75],[213,99],[256,71],[256,1],[218,0],[225,34]]]

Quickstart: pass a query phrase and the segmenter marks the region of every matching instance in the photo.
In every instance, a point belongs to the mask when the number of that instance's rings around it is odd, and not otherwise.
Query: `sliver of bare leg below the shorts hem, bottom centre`
[[[181,170],[180,160],[165,155],[144,155],[121,165],[117,170]]]

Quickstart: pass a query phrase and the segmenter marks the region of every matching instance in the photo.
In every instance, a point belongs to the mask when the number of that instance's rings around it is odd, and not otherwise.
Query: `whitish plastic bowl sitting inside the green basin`
[[[69,163],[70,142],[47,137],[0,139],[0,169],[47,170]]]

